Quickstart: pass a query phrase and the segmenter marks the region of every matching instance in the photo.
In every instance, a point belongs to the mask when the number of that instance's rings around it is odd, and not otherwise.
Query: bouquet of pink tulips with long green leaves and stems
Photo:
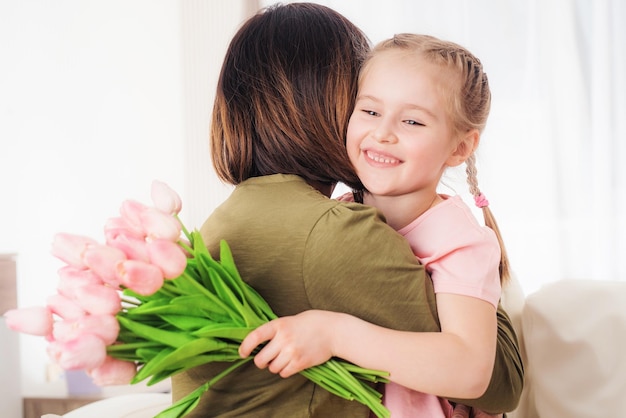
[[[184,227],[174,190],[155,181],[151,197],[153,206],[124,201],[120,216],[105,224],[105,243],[57,234],[52,254],[65,263],[58,292],[45,306],[5,316],[11,329],[44,336],[61,368],[85,370],[98,385],[150,385],[208,362],[232,362],[158,415],[183,417],[215,382],[252,359],[239,356],[241,341],[276,315],[241,279],[225,241],[218,261],[200,234]],[[389,416],[368,384],[385,381],[384,372],[331,359],[300,373]]]

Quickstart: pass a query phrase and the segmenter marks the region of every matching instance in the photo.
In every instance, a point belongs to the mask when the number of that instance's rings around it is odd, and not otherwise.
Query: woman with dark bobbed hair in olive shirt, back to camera
[[[213,111],[212,158],[236,185],[202,226],[212,254],[226,240],[242,277],[279,316],[345,312],[407,331],[438,331],[432,283],[405,240],[373,208],[330,199],[337,182],[360,188],[345,150],[357,76],[369,50],[362,32],[326,7],[274,6],[249,19],[226,54]],[[364,348],[366,349],[366,348]],[[173,379],[179,399],[228,367],[212,363]],[[494,374],[464,401],[515,407],[523,370],[499,312]],[[282,379],[247,364],[190,416],[367,417],[366,407],[300,375]]]

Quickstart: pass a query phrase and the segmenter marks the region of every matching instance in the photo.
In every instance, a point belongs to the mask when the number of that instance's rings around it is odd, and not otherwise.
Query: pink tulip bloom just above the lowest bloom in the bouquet
[[[48,355],[64,370],[91,370],[106,359],[106,344],[98,336],[82,334],[66,342],[48,344]]]

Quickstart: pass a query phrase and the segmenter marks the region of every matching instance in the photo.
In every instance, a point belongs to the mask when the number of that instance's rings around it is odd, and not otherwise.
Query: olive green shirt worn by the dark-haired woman
[[[432,283],[406,240],[376,209],[328,199],[300,177],[246,180],[201,233],[214,257],[219,241],[228,242],[243,279],[278,316],[322,309],[387,328],[439,330]],[[499,325],[492,384],[480,402],[465,402],[494,412],[515,407],[523,376],[510,321],[503,316]],[[211,363],[174,376],[174,400],[228,365]],[[369,410],[300,375],[283,379],[248,363],[220,380],[188,416],[366,418]]]

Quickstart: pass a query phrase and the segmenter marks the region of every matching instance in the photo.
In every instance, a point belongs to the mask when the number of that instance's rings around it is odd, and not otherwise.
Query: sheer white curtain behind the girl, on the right
[[[317,3],[372,42],[429,33],[483,61],[493,104],[479,181],[526,293],[563,278],[626,280],[626,3]],[[466,193],[462,173],[447,183]]]

